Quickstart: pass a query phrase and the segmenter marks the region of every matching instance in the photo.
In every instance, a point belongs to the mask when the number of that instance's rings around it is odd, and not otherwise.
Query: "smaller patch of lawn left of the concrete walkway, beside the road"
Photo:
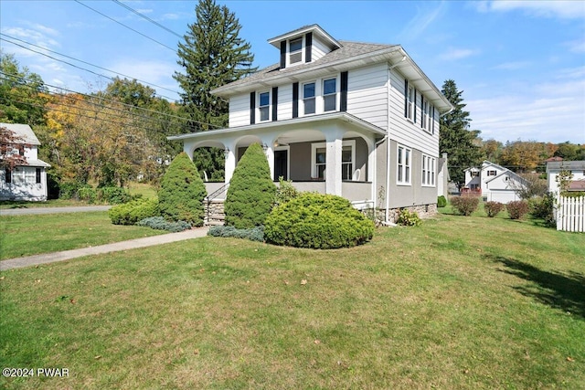
[[[94,247],[166,233],[112,225],[107,212],[0,216],[0,259]]]

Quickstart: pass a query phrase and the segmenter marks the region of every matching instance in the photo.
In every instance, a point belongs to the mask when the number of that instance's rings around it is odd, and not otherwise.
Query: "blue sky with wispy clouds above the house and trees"
[[[122,4],[179,36],[195,22],[195,1]],[[318,24],[339,40],[401,45],[439,89],[444,80],[454,79],[463,90],[472,129],[484,140],[585,143],[584,1],[218,4],[239,18],[240,37],[250,42],[260,68],[279,59],[268,39]],[[181,71],[175,51],[180,38],[114,1],[3,0],[0,31],[4,53],[14,54],[49,85],[101,90],[110,80],[94,73],[113,77],[103,70],[111,69],[177,99],[172,75]]]

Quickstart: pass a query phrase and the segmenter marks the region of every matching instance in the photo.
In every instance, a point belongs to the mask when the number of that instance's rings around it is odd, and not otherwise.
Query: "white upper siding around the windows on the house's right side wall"
[[[439,157],[439,112],[435,109],[434,134],[420,128],[420,91],[417,91],[417,122],[413,123],[406,119],[404,117],[404,78],[396,70],[390,70],[390,76],[390,139],[431,157]]]

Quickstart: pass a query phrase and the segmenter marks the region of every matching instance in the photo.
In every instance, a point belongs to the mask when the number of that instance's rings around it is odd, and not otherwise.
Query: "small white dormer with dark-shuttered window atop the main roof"
[[[281,50],[281,69],[313,62],[341,47],[318,25],[301,27],[268,42]]]

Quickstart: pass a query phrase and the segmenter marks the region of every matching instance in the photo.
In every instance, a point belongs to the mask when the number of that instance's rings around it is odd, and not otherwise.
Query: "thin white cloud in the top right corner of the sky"
[[[478,2],[476,9],[480,12],[524,11],[528,16],[559,17],[562,19],[585,18],[585,2],[581,0],[527,1],[496,0]]]

